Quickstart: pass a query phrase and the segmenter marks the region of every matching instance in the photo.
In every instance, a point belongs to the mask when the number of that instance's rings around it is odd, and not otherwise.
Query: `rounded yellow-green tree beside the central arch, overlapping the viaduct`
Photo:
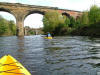
[[[58,25],[64,24],[65,20],[57,11],[48,11],[45,13],[43,18],[44,23],[44,31],[45,32],[53,32]]]

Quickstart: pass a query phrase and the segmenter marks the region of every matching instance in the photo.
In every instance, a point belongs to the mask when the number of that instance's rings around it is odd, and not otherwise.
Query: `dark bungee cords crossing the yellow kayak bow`
[[[14,63],[18,63],[18,62],[14,62]],[[5,73],[13,73],[13,74],[18,74],[18,75],[25,75],[24,73],[10,72],[10,71],[14,71],[14,70],[16,70],[16,69],[23,69],[21,66],[12,65],[12,64],[14,64],[14,63],[9,63],[9,64],[2,64],[2,63],[0,63],[0,67],[2,67],[2,66],[6,66],[6,65],[8,65],[8,66],[15,66],[15,67],[17,67],[17,68],[10,69],[10,70],[6,70],[6,71],[0,71],[0,73],[5,72]]]

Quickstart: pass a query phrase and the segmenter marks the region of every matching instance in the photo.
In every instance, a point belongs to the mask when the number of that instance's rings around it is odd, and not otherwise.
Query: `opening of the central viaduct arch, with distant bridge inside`
[[[43,15],[40,13],[32,13],[28,15],[24,20],[24,34],[30,35],[30,32],[34,34],[40,34],[40,30],[43,28]]]

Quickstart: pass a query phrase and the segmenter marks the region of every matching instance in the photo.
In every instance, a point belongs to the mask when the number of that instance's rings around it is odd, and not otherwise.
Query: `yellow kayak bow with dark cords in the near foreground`
[[[5,55],[0,59],[0,75],[31,75],[31,74],[11,55]]]

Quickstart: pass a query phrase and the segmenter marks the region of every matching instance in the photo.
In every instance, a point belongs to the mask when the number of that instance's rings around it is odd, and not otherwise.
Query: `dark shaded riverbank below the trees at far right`
[[[100,26],[96,24],[96,25],[80,27],[73,30],[70,34],[79,36],[100,37]]]

